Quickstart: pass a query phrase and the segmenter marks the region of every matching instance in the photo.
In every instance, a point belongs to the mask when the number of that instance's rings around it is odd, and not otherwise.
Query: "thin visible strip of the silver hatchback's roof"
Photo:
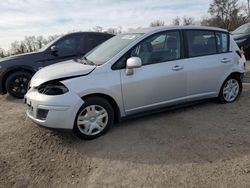
[[[159,31],[167,31],[167,30],[182,30],[182,29],[204,29],[204,30],[214,30],[214,31],[223,31],[228,32],[225,29],[217,28],[217,27],[207,27],[207,26],[197,26],[197,25],[187,25],[187,26],[159,26],[159,27],[149,27],[149,28],[137,28],[132,29],[128,33],[155,33]]]

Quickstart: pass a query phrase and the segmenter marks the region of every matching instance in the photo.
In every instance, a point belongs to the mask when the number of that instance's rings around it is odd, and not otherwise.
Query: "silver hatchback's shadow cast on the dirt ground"
[[[239,100],[220,105],[207,101],[132,118],[91,141],[68,133],[58,133],[58,136],[65,146],[69,141],[71,146],[73,143],[82,155],[107,160],[143,164],[229,160],[250,153],[250,117],[239,117],[234,110],[241,103],[244,102]]]

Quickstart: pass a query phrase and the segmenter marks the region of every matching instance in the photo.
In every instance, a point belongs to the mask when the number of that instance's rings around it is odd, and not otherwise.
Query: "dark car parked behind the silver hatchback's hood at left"
[[[113,36],[99,32],[70,33],[55,39],[37,52],[0,59],[0,94],[9,93],[13,97],[23,98],[36,71],[61,61],[80,58]]]

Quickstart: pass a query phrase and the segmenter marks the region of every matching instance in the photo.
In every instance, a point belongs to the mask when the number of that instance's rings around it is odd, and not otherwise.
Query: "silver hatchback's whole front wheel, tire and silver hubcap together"
[[[75,117],[73,132],[81,139],[91,140],[105,134],[113,123],[111,104],[101,97],[89,97]]]

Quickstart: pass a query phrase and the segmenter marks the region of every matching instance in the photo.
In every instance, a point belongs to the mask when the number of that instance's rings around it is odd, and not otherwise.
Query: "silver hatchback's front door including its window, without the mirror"
[[[142,67],[133,75],[121,70],[127,115],[184,100],[187,74],[180,46],[179,31],[168,31],[148,37],[129,52],[140,57]]]

